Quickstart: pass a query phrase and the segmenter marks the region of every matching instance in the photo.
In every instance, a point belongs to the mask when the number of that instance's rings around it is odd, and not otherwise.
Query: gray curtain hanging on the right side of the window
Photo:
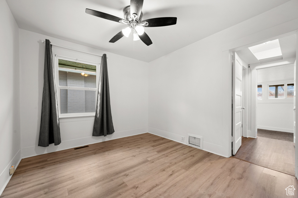
[[[114,133],[111,113],[107,56],[103,54],[97,94],[96,112],[92,136],[107,136]]]

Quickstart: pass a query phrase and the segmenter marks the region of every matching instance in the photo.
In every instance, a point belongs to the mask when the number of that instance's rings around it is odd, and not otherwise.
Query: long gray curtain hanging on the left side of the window
[[[61,143],[60,124],[58,116],[58,102],[54,78],[52,45],[46,39],[44,54],[44,91],[42,95],[41,122],[38,146],[49,146]]]

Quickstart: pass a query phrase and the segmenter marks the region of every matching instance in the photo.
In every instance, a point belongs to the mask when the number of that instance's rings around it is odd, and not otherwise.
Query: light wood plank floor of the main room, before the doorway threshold
[[[1,197],[272,198],[297,181],[145,133],[22,159]]]

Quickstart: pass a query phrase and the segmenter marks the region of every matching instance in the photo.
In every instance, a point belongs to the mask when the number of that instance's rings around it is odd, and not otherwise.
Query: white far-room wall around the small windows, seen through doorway
[[[257,70],[262,100],[257,100],[257,128],[294,133],[294,98],[268,99],[269,84],[294,83],[294,64]]]

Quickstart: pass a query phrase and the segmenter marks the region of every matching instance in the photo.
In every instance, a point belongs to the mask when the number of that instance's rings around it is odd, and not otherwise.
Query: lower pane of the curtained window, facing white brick
[[[95,96],[95,91],[60,89],[61,114],[95,112]]]

